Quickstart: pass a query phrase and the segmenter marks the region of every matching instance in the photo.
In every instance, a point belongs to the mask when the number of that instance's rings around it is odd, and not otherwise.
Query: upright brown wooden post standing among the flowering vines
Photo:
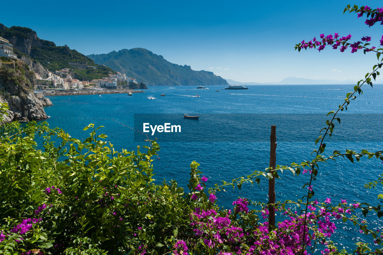
[[[270,134],[270,164],[269,167],[272,167],[273,170],[270,173],[274,173],[275,170],[275,161],[277,159],[277,135],[276,130],[277,126],[271,126],[271,134]],[[268,181],[268,230],[271,230],[271,226],[275,226],[275,208],[273,205],[275,204],[275,177],[272,180]]]

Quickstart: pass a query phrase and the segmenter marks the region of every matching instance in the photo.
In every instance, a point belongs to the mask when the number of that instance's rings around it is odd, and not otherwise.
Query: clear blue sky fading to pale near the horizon
[[[360,80],[377,63],[376,54],[329,48],[294,50],[319,34],[372,37],[383,26],[343,14],[339,1],[12,1],[2,3],[0,23],[33,29],[41,39],[82,54],[142,47],[169,62],[190,65],[238,82],[279,82],[286,77]],[[382,75],[383,76],[383,75]],[[383,83],[383,77],[377,78]]]

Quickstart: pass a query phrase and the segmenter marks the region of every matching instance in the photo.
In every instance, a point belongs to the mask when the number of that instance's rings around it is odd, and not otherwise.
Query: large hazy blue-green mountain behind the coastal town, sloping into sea
[[[143,48],[122,49],[108,54],[88,55],[96,64],[125,73],[154,85],[228,85],[226,80],[213,72],[191,70],[189,65],[172,64],[161,55]]]

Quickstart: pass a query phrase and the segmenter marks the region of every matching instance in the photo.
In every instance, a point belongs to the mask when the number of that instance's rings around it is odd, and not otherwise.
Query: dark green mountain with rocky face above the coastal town
[[[74,74],[72,78],[79,80],[100,79],[113,73],[110,68],[95,64],[92,59],[74,49],[69,49],[66,45],[56,46],[54,42],[38,38],[37,33],[30,28],[21,26],[7,28],[0,23],[0,36],[13,44],[13,50],[19,59],[43,77],[46,77],[44,68],[50,72],[69,68]],[[95,68],[80,69],[72,67],[69,62],[87,64]]]

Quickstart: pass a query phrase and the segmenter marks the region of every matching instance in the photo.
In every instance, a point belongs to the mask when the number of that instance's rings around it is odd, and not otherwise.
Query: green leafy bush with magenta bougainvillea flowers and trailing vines
[[[383,20],[383,8],[371,10],[347,7],[346,10],[365,13],[373,21]],[[372,15],[373,13],[373,15]],[[367,22],[367,21],[366,21]],[[374,23],[375,24],[375,23]],[[342,44],[350,38],[321,36],[314,47]],[[317,43],[318,42],[318,43]],[[366,41],[367,43],[367,41]],[[318,45],[319,44],[319,45]],[[383,45],[383,38],[381,40]],[[301,42],[296,49],[311,48]],[[334,45],[333,45],[334,46]],[[198,163],[190,165],[189,192],[176,181],[153,183],[152,158],[159,150],[155,141],[136,151],[116,152],[104,134],[97,135],[93,124],[90,136],[81,142],[46,123],[28,123],[22,127],[14,122],[0,129],[0,249],[4,254],[349,254],[339,250],[329,239],[342,222],[351,222],[360,232],[371,235],[375,244],[357,242],[354,253],[382,254],[383,235],[370,230],[364,216],[375,211],[383,216],[381,205],[347,203],[346,199],[317,201],[313,181],[318,166],[327,160],[346,157],[359,161],[363,156],[383,162],[383,151],[355,152],[335,150],[325,157],[324,139],[331,137],[339,111],[347,110],[356,93],[363,93],[364,83],[372,86],[371,77],[379,75],[383,64],[383,49],[352,44],[352,51],[375,51],[378,65],[354,90],[347,93],[344,103],[330,111],[326,127],[316,143],[313,160],[277,165],[254,171],[246,177],[235,178],[222,185],[214,185],[206,192],[208,178],[198,170]],[[5,114],[1,105],[0,115]],[[41,140],[43,137],[43,141]],[[38,144],[40,142],[41,144]],[[44,148],[43,150],[38,149]],[[298,175],[308,173],[305,201],[270,202],[268,204],[238,198],[232,210],[219,208],[216,193],[226,186],[241,188],[245,182],[259,183],[259,177],[279,178],[278,172],[290,170]],[[307,176],[307,175],[306,175]],[[381,185],[382,176],[368,183],[367,188]],[[382,198],[383,195],[380,195]],[[249,209],[249,205],[253,208]],[[290,207],[292,209],[290,209]],[[302,208],[301,212],[294,207]],[[269,209],[280,212],[282,221],[269,224]],[[270,220],[270,219],[269,219]],[[373,246],[373,247],[371,247]],[[372,250],[375,249],[375,250]]]

